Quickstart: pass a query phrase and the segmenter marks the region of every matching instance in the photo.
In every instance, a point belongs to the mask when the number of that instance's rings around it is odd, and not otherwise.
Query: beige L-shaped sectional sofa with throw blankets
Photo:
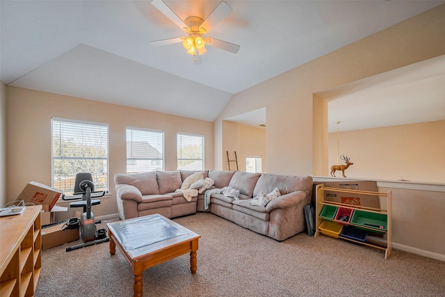
[[[196,211],[210,211],[277,241],[306,228],[303,208],[311,202],[310,176],[204,170],[200,177],[208,178],[213,185],[207,190],[200,188],[197,195],[186,198],[184,191],[178,189],[193,187],[190,179],[196,175],[197,171],[193,170],[116,174],[114,180],[120,218],[124,220],[148,214],[175,218],[195,214]],[[227,189],[236,195],[225,195],[227,191],[223,190]]]

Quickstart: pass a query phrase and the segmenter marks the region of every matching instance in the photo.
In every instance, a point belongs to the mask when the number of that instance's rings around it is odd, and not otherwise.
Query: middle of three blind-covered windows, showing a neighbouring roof
[[[127,128],[127,174],[164,170],[164,132]]]

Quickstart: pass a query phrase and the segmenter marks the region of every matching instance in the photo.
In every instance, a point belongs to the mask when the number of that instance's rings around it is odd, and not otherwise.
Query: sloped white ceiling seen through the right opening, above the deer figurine
[[[327,99],[329,131],[445,120],[445,56],[317,94]]]

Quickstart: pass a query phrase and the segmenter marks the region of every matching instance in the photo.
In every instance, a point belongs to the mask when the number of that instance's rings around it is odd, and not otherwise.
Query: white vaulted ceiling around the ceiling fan
[[[220,1],[165,3],[181,19],[205,19]],[[181,44],[149,45],[186,35],[150,1],[1,0],[0,79],[213,121],[234,93],[445,1],[227,3],[232,14],[207,36],[241,49],[232,54],[208,46],[203,63],[193,65]]]

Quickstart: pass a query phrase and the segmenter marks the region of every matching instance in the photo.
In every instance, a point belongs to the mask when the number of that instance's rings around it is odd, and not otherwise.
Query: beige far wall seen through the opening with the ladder
[[[223,170],[229,170],[229,159],[238,159],[238,170],[245,171],[246,156],[261,156],[263,172],[266,172],[266,129],[241,125],[236,122],[223,121]],[[236,163],[230,162],[230,169],[236,169]]]

